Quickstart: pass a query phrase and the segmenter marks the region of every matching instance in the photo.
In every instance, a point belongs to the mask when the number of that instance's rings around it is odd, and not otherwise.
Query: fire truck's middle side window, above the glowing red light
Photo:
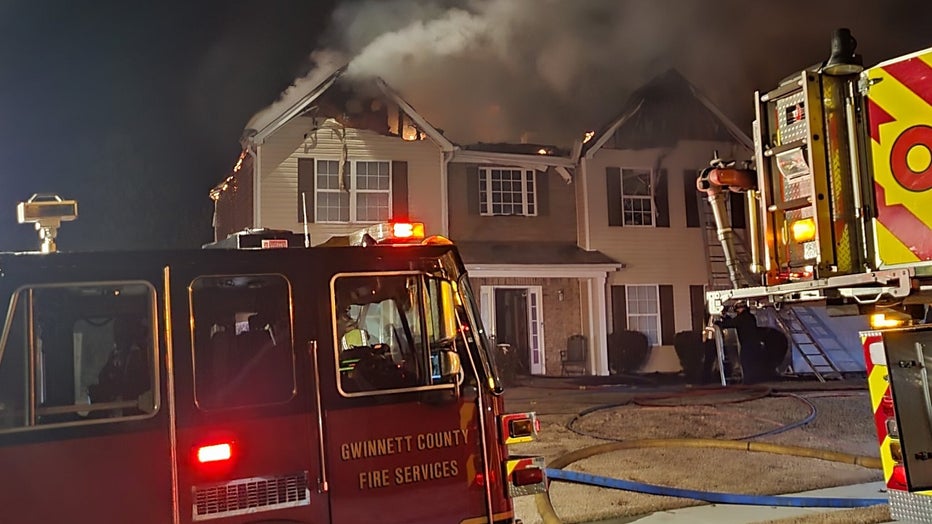
[[[199,277],[190,293],[197,405],[216,410],[290,400],[295,374],[285,277]]]

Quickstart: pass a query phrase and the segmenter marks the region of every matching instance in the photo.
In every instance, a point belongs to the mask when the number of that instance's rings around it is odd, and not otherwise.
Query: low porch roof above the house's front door
[[[615,265],[600,251],[586,251],[572,242],[456,242],[466,264]]]

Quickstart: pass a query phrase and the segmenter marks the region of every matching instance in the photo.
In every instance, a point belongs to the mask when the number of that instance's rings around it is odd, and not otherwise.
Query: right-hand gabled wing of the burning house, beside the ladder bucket
[[[646,370],[679,368],[678,331],[701,328],[710,247],[696,177],[717,152],[746,160],[751,139],[675,70],[635,91],[577,147],[579,245],[625,263],[611,273],[609,331],[645,333]],[[741,227],[740,198],[732,216]],[[714,235],[713,235],[714,238]]]

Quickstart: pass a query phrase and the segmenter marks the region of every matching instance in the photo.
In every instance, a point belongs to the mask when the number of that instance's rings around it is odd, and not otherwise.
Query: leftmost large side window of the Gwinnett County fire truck
[[[155,413],[151,285],[37,286],[17,291],[11,304],[0,348],[0,431]]]

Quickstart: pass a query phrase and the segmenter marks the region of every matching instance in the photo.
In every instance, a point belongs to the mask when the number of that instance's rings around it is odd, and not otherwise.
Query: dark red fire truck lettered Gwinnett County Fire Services
[[[377,224],[306,247],[0,254],[4,522],[513,523],[546,489],[456,246]]]

